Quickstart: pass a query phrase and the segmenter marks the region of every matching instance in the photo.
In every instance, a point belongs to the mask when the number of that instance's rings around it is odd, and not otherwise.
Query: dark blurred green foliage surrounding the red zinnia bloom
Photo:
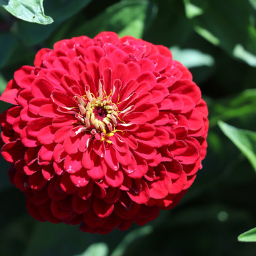
[[[169,47],[190,68],[209,107],[209,146],[203,169],[175,209],[106,236],[35,221],[1,158],[0,255],[255,255],[256,244],[237,237],[256,226],[256,1],[23,1],[43,4],[44,12],[32,18],[53,18],[49,25],[9,14],[5,9],[15,2],[22,1],[0,0],[0,92],[17,68],[33,65],[35,53],[56,41],[104,30],[133,35]],[[0,103],[1,112],[7,107]],[[255,240],[255,230],[249,235]]]

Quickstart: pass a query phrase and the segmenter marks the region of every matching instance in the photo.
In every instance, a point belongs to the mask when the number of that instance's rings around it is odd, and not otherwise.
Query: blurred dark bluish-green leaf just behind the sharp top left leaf
[[[75,13],[79,12],[83,7],[88,5],[91,0],[58,0],[58,1],[45,1],[45,9],[47,13],[51,14],[54,23],[49,26],[39,26],[37,24],[22,22],[20,20],[16,24],[15,31],[18,37],[26,43],[26,45],[35,45],[47,39],[51,33],[60,26],[60,23],[70,18]]]

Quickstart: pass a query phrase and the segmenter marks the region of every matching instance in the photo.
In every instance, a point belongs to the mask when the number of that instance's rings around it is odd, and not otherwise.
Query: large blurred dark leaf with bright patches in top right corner
[[[183,1],[186,16],[198,34],[228,54],[256,67],[254,0]]]

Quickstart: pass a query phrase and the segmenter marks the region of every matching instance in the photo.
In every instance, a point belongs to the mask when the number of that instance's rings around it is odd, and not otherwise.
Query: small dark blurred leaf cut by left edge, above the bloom
[[[2,68],[7,60],[10,58],[12,51],[14,50],[14,46],[16,45],[16,39],[11,35],[11,33],[1,33],[0,45],[0,68]]]

